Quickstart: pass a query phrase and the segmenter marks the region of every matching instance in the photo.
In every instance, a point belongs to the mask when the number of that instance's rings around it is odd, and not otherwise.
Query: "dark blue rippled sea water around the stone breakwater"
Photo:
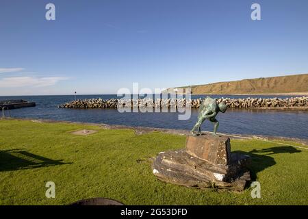
[[[262,97],[281,99],[290,96],[262,95],[210,95],[213,98],[247,98]],[[192,95],[192,99],[204,98],[205,95]],[[14,118],[42,118],[86,123],[105,123],[110,125],[129,125],[139,127],[157,127],[167,129],[190,130],[197,120],[198,111],[192,110],[188,120],[179,120],[179,112],[124,112],[114,109],[64,109],[59,108],[68,101],[77,99],[113,99],[116,94],[102,95],[57,95],[57,96],[0,96],[1,100],[23,99],[36,102],[36,107],[10,110]],[[308,139],[308,111],[300,110],[257,110],[228,109],[216,116],[220,125],[218,132],[262,136],[282,136]],[[202,129],[212,131],[213,125],[208,121]]]

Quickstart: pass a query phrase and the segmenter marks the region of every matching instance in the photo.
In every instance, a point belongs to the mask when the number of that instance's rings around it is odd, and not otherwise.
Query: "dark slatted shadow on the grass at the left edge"
[[[41,168],[62,164],[72,163],[64,163],[62,162],[62,159],[54,160],[41,157],[39,155],[29,153],[25,151],[25,149],[0,151],[0,172]]]

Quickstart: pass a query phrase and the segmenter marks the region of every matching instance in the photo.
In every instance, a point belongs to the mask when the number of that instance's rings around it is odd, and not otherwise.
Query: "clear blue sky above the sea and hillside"
[[[308,73],[307,24],[307,0],[1,0],[0,96]]]

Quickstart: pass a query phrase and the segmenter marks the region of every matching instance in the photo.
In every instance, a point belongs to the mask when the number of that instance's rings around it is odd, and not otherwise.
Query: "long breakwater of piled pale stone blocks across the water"
[[[200,107],[203,99],[84,99],[70,101],[59,105],[60,108],[79,108],[79,109],[117,109],[122,107]],[[229,108],[272,108],[272,107],[308,107],[308,96],[291,97],[287,99],[263,99],[263,98],[246,98],[246,99],[216,99],[218,103],[224,102]]]

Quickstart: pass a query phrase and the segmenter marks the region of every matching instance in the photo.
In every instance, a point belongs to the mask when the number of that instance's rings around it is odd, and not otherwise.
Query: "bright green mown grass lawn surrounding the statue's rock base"
[[[98,132],[70,133],[79,129]],[[66,205],[93,197],[126,205],[308,204],[308,146],[231,140],[232,151],[253,158],[251,175],[261,183],[261,198],[251,198],[249,187],[235,193],[157,180],[149,158],[184,146],[185,136],[159,132],[0,120],[0,205]],[[55,198],[45,197],[47,181],[55,182]]]

